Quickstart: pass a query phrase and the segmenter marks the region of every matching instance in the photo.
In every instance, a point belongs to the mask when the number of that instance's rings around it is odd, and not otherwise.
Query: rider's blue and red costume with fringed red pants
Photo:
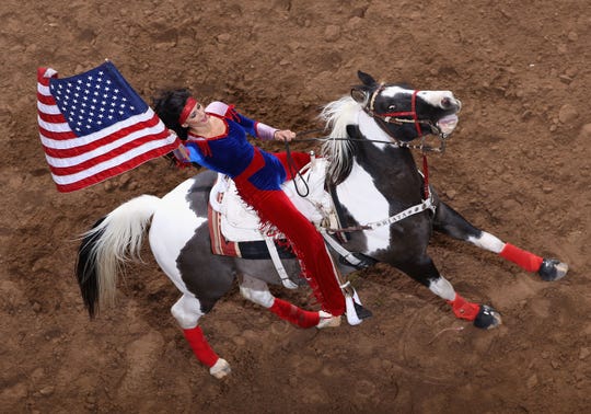
[[[290,242],[323,309],[334,315],[345,311],[345,298],[337,271],[315,227],[293,206],[281,189],[292,179],[286,153],[269,153],[254,147],[247,135],[270,140],[277,129],[237,113],[233,106],[213,102],[206,113],[225,124],[224,134],[204,138],[188,134],[184,147],[188,156],[175,151],[181,162],[196,162],[232,177],[241,197],[253,207],[263,223],[277,228]],[[291,153],[297,170],[310,161],[306,153]]]

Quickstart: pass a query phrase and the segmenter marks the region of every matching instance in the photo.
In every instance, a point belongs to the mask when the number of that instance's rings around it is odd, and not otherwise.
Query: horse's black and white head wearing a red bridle
[[[408,142],[428,134],[447,138],[457,125],[462,103],[450,91],[420,91],[398,83],[379,83],[358,71],[362,84],[351,97],[395,141]]]

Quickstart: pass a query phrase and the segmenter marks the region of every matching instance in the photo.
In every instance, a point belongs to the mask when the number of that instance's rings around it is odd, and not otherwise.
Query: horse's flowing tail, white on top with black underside
[[[82,234],[76,274],[91,319],[100,307],[114,302],[125,263],[140,261],[146,228],[161,202],[151,195],[130,199]]]

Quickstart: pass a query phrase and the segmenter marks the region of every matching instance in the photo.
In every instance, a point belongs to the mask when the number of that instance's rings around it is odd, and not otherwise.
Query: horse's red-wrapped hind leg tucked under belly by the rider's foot
[[[269,291],[267,284],[263,280],[243,275],[240,278],[240,292],[245,299],[257,303],[280,319],[292,323],[298,327],[334,327],[340,325],[340,317],[334,317],[328,312],[312,312],[303,310],[288,301],[276,298]]]

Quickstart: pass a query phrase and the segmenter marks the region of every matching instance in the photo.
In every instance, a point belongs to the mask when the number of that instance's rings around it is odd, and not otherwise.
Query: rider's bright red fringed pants
[[[292,156],[297,164],[304,161],[299,153]],[[278,158],[285,165],[285,158]],[[260,221],[274,225],[289,240],[323,309],[334,315],[343,314],[345,297],[337,281],[337,271],[314,225],[291,204],[282,191],[258,189],[244,176],[235,177],[234,182],[242,198],[258,212]]]

